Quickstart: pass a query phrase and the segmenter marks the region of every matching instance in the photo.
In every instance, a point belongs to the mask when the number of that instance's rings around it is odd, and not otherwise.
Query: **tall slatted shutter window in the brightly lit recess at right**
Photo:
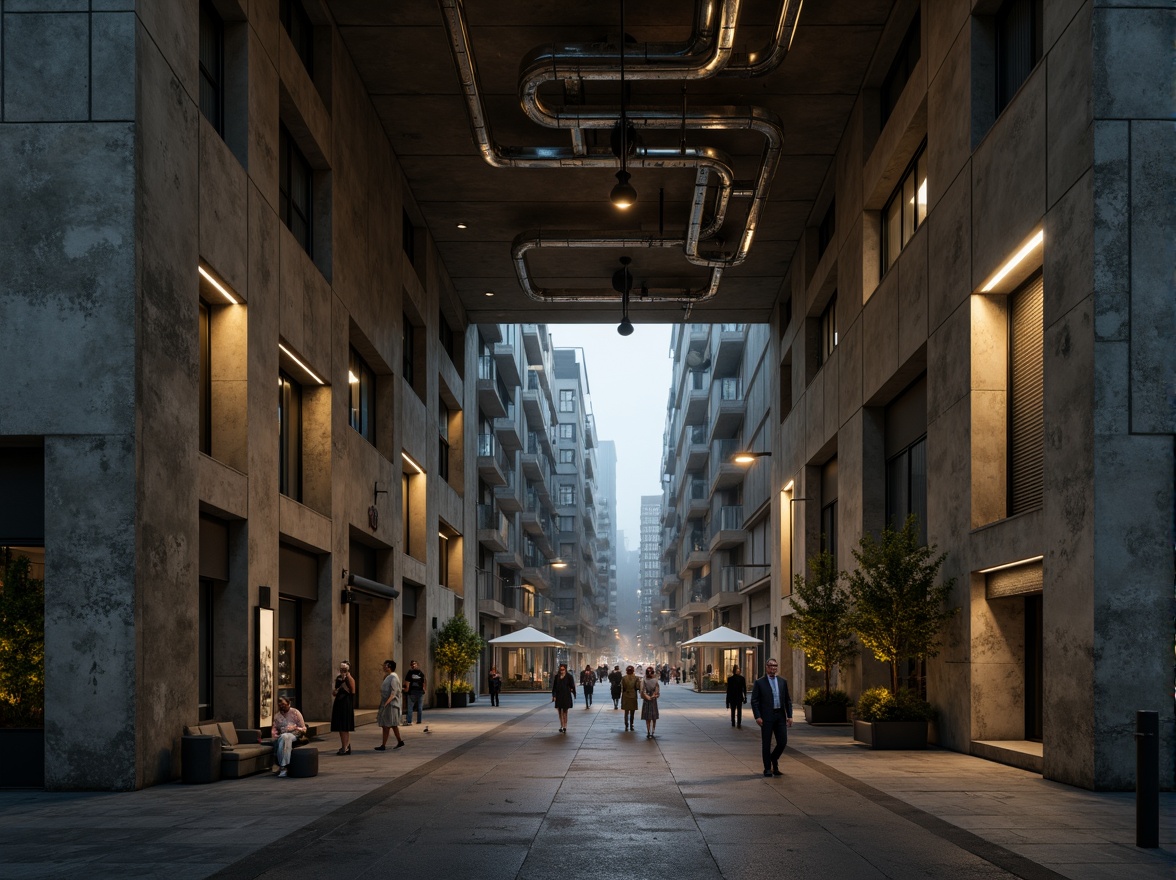
[[[1042,401],[1042,276],[1009,298],[1009,494],[1010,516],[1042,506],[1044,407]]]

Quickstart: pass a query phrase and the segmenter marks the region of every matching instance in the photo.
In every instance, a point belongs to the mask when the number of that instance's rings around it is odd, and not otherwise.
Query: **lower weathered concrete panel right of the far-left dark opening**
[[[140,693],[131,428],[45,441],[48,789],[136,787],[135,708],[151,695]]]

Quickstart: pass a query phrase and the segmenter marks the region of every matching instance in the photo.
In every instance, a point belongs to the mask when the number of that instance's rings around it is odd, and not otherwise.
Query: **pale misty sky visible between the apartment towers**
[[[560,348],[582,346],[596,435],[616,444],[616,528],[628,549],[641,539],[641,496],[661,494],[662,432],[673,362],[670,325],[637,324],[632,336],[616,324],[549,324]]]

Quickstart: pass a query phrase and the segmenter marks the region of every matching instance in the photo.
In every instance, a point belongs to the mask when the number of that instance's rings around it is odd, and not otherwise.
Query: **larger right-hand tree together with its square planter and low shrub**
[[[910,515],[898,531],[884,528],[877,539],[862,535],[854,551],[857,569],[849,574],[854,629],[862,645],[890,666],[889,699],[867,692],[857,700],[854,739],[873,748],[927,747],[931,708],[921,695],[898,687],[898,666],[935,656],[943,624],[955,614],[947,605],[955,579],[940,581],[947,554],[936,556],[935,549],[920,545],[918,520]],[[908,722],[915,739],[895,740],[880,729],[895,722]]]

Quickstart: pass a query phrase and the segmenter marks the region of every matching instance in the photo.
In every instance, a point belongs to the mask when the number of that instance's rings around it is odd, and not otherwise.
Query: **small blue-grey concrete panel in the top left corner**
[[[5,121],[89,119],[89,15],[15,15],[12,7],[5,4]]]

